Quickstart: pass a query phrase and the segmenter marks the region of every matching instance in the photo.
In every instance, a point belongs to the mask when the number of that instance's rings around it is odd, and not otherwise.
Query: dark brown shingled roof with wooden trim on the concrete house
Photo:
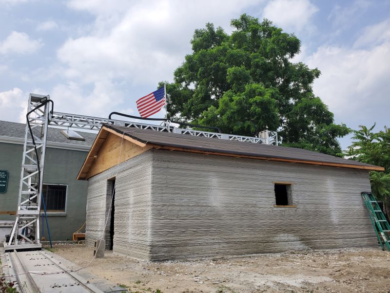
[[[100,132],[102,131],[115,133],[120,137],[123,136],[125,139],[130,140],[139,146],[151,146],[158,149],[331,167],[347,167],[380,171],[384,170],[383,167],[373,166],[294,147],[254,144],[250,142],[230,141],[216,138],[192,136],[188,134],[159,132],[154,130],[128,128],[114,125],[104,125],[100,129]],[[100,132],[98,137],[101,134]],[[103,143],[102,140],[104,140],[104,135],[102,136],[103,137],[100,137],[99,141],[100,147]],[[107,137],[107,134],[105,137]],[[97,154],[99,146],[95,145],[96,141],[94,146],[91,148],[90,154],[91,152]],[[87,156],[86,162],[89,159],[90,154]],[[92,164],[92,162],[89,162],[89,164],[85,163],[84,166]],[[81,168],[79,175],[81,172],[88,173],[87,170],[83,169],[84,166]],[[78,179],[85,178],[78,176]]]

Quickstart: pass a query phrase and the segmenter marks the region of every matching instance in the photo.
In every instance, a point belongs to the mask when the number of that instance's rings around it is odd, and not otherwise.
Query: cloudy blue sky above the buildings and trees
[[[390,126],[390,0],[0,0],[0,120],[24,123],[29,93],[57,112],[137,115],[137,99],[173,81],[196,28],[230,33],[243,13],[301,40],[293,62],[321,71],[313,91],[336,123]]]

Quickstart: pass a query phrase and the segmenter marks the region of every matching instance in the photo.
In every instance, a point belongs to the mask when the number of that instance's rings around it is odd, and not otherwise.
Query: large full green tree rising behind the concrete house
[[[231,35],[212,23],[195,30],[192,54],[167,84],[168,117],[241,135],[277,130],[285,146],[340,153],[349,129],[314,96],[320,71],[292,63],[298,38],[246,14],[231,25]]]

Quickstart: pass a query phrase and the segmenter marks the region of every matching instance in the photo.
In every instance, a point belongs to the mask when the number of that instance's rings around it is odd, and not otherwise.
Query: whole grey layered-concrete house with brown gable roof
[[[370,190],[369,170],[382,168],[297,148],[104,126],[78,174],[89,180],[87,245],[104,231],[106,249],[149,260],[376,246],[360,195]]]

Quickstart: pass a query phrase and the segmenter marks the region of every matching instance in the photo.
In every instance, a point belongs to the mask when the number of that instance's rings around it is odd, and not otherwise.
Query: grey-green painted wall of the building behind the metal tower
[[[20,183],[23,145],[0,143],[0,169],[9,171],[7,192],[0,193],[0,210],[16,210]],[[52,240],[72,240],[72,233],[84,223],[88,182],[76,180],[87,155],[86,151],[47,147],[43,182],[67,184],[66,212],[48,214]],[[15,220],[12,215],[0,215],[0,220]],[[44,223],[46,225],[46,223]],[[40,223],[40,231],[42,225]],[[44,236],[48,240],[46,226]]]

